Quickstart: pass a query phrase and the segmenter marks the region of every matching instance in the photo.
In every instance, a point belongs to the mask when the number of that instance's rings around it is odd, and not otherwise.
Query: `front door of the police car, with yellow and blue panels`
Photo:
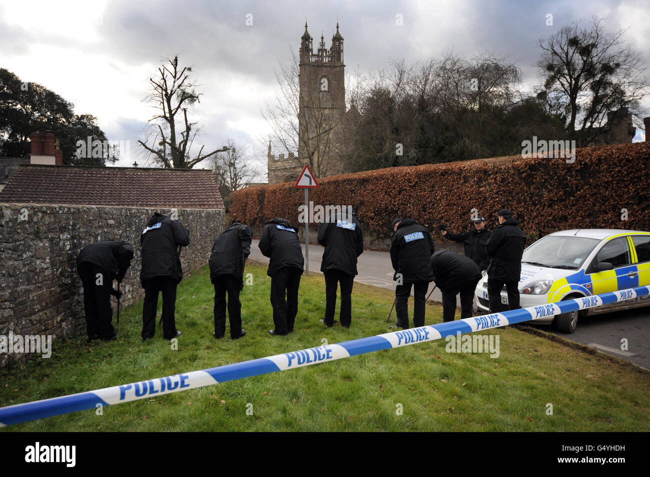
[[[598,271],[597,265],[601,262],[612,263],[614,269]],[[607,241],[592,260],[588,275],[591,278],[591,289],[594,295],[637,287],[639,274],[636,265],[632,262],[632,251],[627,236]],[[599,308],[597,312],[611,311],[628,305],[616,302]]]

